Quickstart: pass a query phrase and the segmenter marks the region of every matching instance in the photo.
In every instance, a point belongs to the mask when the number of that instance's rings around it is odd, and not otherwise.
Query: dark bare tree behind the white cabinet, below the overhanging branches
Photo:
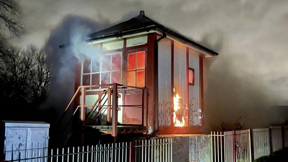
[[[45,54],[32,45],[25,51],[5,43],[0,46],[2,103],[26,107],[43,102],[51,82]]]

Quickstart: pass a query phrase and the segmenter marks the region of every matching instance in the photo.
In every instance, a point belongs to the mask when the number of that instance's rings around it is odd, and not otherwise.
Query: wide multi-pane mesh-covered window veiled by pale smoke
[[[81,85],[121,84],[122,51],[107,54],[102,61],[86,59],[81,67]],[[107,88],[95,87],[93,89]]]

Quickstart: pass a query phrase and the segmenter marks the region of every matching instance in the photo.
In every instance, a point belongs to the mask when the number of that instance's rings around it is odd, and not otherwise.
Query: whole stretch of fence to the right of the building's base
[[[288,145],[288,126],[211,132],[211,161],[250,162]]]

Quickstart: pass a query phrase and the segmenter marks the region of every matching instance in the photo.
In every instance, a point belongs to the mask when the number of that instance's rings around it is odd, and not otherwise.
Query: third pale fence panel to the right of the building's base
[[[269,128],[253,129],[253,148],[254,158],[260,158],[261,156],[267,156],[270,154],[270,135]]]

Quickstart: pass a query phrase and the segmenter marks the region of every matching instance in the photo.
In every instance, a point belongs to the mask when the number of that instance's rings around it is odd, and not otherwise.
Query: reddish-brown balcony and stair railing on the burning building
[[[99,87],[102,87],[102,89],[98,89]],[[105,89],[104,89],[105,87]],[[122,94],[124,95],[127,93],[127,91],[132,91],[132,94],[137,94],[137,101],[131,104],[119,104],[118,97]],[[96,99],[95,103],[92,105],[86,105],[86,93],[96,92],[98,94],[98,98]],[[147,118],[148,118],[148,88],[146,87],[135,87],[135,86],[127,86],[123,84],[101,84],[101,85],[89,85],[89,86],[79,86],[76,90],[74,96],[72,97],[71,101],[67,105],[66,109],[64,110],[63,116],[68,111],[69,107],[71,107],[71,104],[73,101],[78,98],[77,96],[81,96],[80,99],[80,105],[76,107],[74,110],[72,117],[76,114],[78,110],[80,110],[80,120],[82,122],[82,125],[103,125],[102,123],[106,123],[104,125],[109,125],[112,130],[111,134],[112,136],[117,135],[117,125],[118,124],[118,111],[122,107],[132,107],[132,108],[139,108],[141,109],[142,116],[141,116],[141,124],[136,124],[137,126],[143,126],[147,127]],[[124,100],[124,99],[123,99]],[[141,103],[141,104],[139,104]],[[90,108],[90,109],[89,109]],[[103,112],[107,112],[106,117],[101,117],[103,115]],[[138,113],[135,112],[135,113]],[[124,113],[123,113],[124,114]],[[127,114],[126,114],[127,115]],[[71,118],[72,118],[71,117]],[[123,116],[122,116],[123,117]],[[98,123],[95,124],[96,120],[98,119]],[[107,121],[103,121],[107,120]],[[124,124],[121,124],[122,126]],[[127,126],[127,125],[126,125]],[[107,132],[107,131],[106,131]],[[110,134],[110,133],[109,133]]]

